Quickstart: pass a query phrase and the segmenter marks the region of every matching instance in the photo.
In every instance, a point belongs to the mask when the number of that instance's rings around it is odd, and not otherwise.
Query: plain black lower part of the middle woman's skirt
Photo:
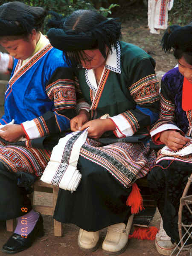
[[[54,218],[73,223],[87,231],[97,231],[125,222],[131,215],[126,200],[131,188],[125,188],[105,168],[79,157],[77,168],[82,178],[73,193],[59,189]]]

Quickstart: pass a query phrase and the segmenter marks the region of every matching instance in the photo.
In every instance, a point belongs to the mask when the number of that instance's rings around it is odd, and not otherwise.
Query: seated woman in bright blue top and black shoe
[[[0,44],[10,53],[0,54],[0,71],[12,71],[0,119],[0,220],[17,217],[5,253],[24,250],[44,234],[26,189],[47,166],[52,140],[75,116],[72,73],[62,51],[39,31],[45,16],[43,8],[20,2],[0,6]]]

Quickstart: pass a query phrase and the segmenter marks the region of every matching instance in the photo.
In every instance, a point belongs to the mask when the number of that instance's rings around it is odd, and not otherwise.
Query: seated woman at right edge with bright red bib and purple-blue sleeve
[[[162,42],[165,51],[174,49],[178,67],[169,70],[162,78],[160,119],[151,129],[151,137],[154,143],[165,144],[170,150],[177,151],[192,137],[192,25],[170,26]],[[170,255],[175,247],[172,243],[180,240],[178,209],[192,173],[192,154],[189,153],[182,157],[160,151],[156,165],[148,175],[149,186],[163,218],[155,243],[157,251],[163,255]],[[192,223],[192,216],[185,207],[182,222]]]

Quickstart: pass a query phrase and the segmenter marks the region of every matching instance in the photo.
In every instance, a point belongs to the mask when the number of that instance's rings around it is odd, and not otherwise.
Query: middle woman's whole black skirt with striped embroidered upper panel
[[[87,139],[80,150],[77,168],[82,179],[73,193],[59,189],[54,218],[87,231],[126,222],[131,209],[126,200],[131,185],[144,177],[155,152],[143,143],[101,143]]]

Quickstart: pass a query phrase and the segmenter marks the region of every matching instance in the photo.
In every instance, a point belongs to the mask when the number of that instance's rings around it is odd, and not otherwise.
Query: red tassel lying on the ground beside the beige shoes
[[[135,227],[134,233],[129,235],[129,238],[154,240],[157,232],[157,227]]]

